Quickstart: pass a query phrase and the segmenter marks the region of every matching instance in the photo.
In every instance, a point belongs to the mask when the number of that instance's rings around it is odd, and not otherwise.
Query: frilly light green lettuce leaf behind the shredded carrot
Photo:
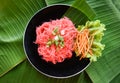
[[[87,58],[90,58],[90,61],[97,61],[97,58],[102,55],[102,50],[104,50],[105,45],[101,43],[102,37],[104,36],[105,25],[100,23],[100,20],[96,21],[87,21],[85,26],[79,25],[77,28],[79,31],[83,29],[89,29],[90,35],[94,36],[92,43],[92,52],[93,55],[87,53]]]

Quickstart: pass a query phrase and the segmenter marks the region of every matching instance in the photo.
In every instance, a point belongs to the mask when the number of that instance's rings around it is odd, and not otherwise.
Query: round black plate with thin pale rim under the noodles
[[[78,57],[75,57],[75,53],[71,59],[66,59],[62,63],[46,62],[38,55],[37,45],[33,43],[36,39],[36,26],[46,21],[61,18],[68,8],[67,5],[53,5],[40,10],[31,18],[25,31],[24,49],[28,60],[35,69],[49,77],[68,78],[75,76],[85,70],[90,63],[89,59],[80,61]]]

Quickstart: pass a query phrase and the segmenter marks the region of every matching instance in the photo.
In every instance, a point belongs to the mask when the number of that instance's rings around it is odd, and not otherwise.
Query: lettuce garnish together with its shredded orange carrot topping
[[[87,21],[85,25],[79,25],[77,29],[79,39],[76,38],[77,43],[74,44],[76,55],[80,56],[80,59],[90,58],[90,61],[97,61],[105,47],[101,43],[103,31],[106,30],[105,25],[100,23],[100,20]]]

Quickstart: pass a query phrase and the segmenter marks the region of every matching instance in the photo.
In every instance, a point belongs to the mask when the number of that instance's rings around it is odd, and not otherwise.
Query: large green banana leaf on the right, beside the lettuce
[[[120,73],[120,1],[119,0],[88,0],[97,16],[106,24],[103,43],[106,45],[102,57],[93,63],[87,73],[95,83],[109,83]]]

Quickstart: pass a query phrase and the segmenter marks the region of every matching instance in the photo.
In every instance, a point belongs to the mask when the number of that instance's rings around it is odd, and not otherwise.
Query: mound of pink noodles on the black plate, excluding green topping
[[[55,27],[58,27],[60,35],[64,38],[64,47],[57,47],[52,44],[47,47],[46,44],[49,39],[54,39],[55,35],[52,34]],[[64,33],[62,33],[64,32]],[[56,64],[63,62],[66,58],[72,57],[72,47],[74,38],[76,37],[77,30],[67,17],[44,22],[41,26],[36,28],[36,41],[38,44],[38,53],[47,62]]]

